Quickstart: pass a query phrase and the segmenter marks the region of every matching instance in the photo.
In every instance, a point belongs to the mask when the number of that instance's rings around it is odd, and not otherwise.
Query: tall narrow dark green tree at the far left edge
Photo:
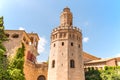
[[[7,37],[4,33],[4,26],[3,26],[3,17],[0,17],[0,80],[8,80],[8,60],[5,56],[6,49],[2,44],[4,41],[7,40]]]

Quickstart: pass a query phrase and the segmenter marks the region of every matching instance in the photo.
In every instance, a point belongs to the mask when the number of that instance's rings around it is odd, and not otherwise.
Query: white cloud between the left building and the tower
[[[47,40],[43,37],[40,37],[40,40],[38,42],[38,53],[42,53],[45,51],[45,45],[47,43]]]

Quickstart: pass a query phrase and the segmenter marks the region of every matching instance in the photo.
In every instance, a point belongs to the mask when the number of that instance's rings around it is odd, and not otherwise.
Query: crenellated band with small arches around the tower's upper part
[[[72,39],[72,40],[82,40],[82,31],[73,26],[59,26],[58,28],[53,29],[51,34],[51,41],[54,42],[56,40],[63,39]]]

